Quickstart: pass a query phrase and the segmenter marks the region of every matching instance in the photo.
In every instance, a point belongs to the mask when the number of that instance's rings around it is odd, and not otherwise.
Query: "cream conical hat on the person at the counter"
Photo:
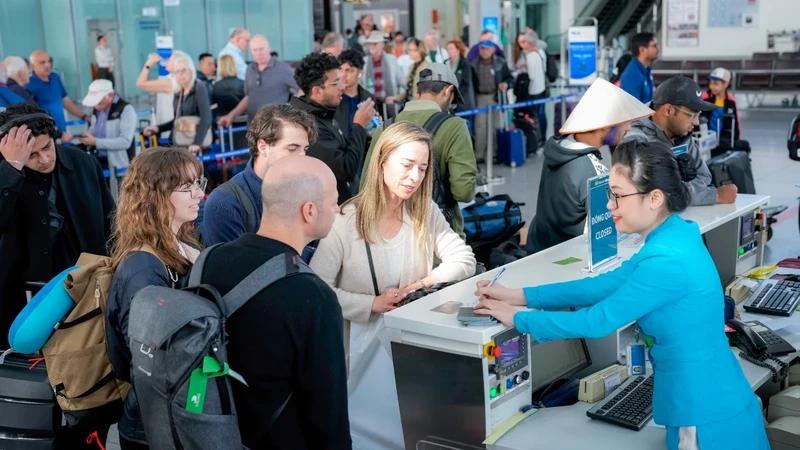
[[[558,108],[558,105],[556,105]],[[569,115],[561,134],[585,133],[649,117],[653,110],[608,81],[598,78]]]

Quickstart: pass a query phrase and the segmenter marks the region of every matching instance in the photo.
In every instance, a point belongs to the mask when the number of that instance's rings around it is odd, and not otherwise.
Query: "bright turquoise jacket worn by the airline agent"
[[[753,391],[724,333],[717,269],[694,222],[673,214],[621,267],[592,278],[525,289],[514,316],[537,341],[600,338],[637,321],[653,339],[653,415],[667,427],[730,419]],[[575,306],[575,312],[559,311]]]

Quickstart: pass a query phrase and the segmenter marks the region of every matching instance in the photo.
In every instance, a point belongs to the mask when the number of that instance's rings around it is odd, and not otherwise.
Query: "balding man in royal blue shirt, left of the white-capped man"
[[[91,116],[83,112],[67,97],[67,90],[64,89],[61,77],[57,73],[53,73],[53,59],[47,52],[36,50],[31,53],[31,67],[33,67],[33,76],[28,83],[28,91],[36,103],[53,116],[56,127],[61,133],[61,140],[63,142],[71,141],[72,135],[66,132],[67,121],[64,118],[64,110],[66,109],[73,116],[86,122],[91,120]]]

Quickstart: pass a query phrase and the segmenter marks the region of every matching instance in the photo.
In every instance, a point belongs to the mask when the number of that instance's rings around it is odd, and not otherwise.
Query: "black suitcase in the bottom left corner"
[[[61,426],[61,411],[44,361],[9,353],[0,364],[0,449],[50,450]]]

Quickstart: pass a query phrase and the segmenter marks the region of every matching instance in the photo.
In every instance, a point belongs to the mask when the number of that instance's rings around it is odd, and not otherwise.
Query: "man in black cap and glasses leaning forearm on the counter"
[[[697,83],[680,75],[668,79],[656,89],[650,107],[655,114],[634,122],[625,141],[661,142],[669,147],[686,145],[697,169],[697,178],[687,184],[692,194],[691,205],[735,202],[735,185],[717,189],[711,184],[711,172],[692,138],[692,130],[700,125],[700,114],[716,108],[703,100],[703,91]]]

